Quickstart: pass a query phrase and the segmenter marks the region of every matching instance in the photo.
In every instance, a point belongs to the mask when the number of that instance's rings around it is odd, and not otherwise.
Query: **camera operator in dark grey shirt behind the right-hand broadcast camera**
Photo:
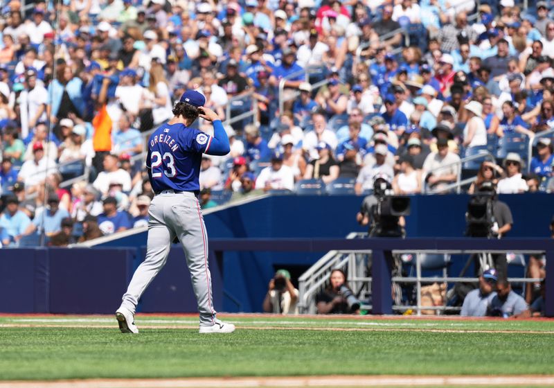
[[[499,201],[494,184],[490,181],[482,182],[477,191],[470,200],[470,206],[474,203],[485,202],[487,211],[481,220],[467,220],[467,235],[472,237],[503,238],[512,229],[514,220],[512,212],[505,202]],[[468,212],[470,213],[470,212]],[[475,222],[476,221],[476,222]],[[479,223],[476,231],[476,224]],[[484,228],[483,228],[484,225]],[[506,279],[508,272],[508,263],[505,254],[493,254],[494,267],[498,271],[499,279]],[[475,268],[476,272],[481,270],[479,266]]]

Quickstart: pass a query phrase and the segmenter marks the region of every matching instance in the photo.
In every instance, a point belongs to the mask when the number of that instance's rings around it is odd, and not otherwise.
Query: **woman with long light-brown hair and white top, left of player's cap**
[[[149,100],[152,104],[152,118],[154,126],[160,125],[172,117],[171,95],[168,80],[163,74],[163,67],[159,63],[152,63],[150,67],[150,85],[148,85]]]

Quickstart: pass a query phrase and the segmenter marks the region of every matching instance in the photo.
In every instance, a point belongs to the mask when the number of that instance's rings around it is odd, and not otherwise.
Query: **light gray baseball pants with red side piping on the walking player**
[[[208,269],[208,234],[200,204],[194,193],[162,191],[148,209],[146,258],[136,269],[121,306],[135,312],[144,290],[166,265],[171,242],[177,236],[186,256],[190,279],[198,302],[200,325],[215,323],[211,274]]]

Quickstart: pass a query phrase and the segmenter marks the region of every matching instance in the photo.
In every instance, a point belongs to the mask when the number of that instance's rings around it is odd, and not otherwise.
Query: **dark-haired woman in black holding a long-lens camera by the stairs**
[[[316,295],[318,314],[359,314],[359,300],[348,287],[343,270],[331,271],[329,284]]]

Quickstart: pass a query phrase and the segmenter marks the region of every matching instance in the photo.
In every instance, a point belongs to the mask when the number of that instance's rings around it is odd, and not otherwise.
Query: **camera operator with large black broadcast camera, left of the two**
[[[375,175],[373,194],[364,198],[361,209],[356,215],[356,220],[360,225],[370,225],[368,231],[370,237],[404,237],[406,235],[404,230],[406,220],[402,215],[379,217],[376,213],[379,201],[382,201],[386,195],[392,194],[391,178],[385,174]]]

